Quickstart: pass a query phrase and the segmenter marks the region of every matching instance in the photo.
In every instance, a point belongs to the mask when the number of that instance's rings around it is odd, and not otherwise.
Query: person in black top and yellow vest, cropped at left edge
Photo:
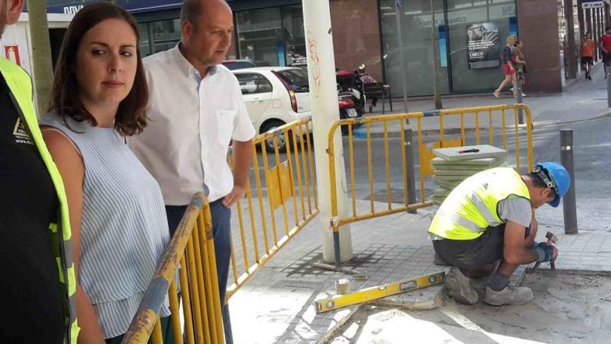
[[[23,6],[0,1],[0,38]],[[64,186],[38,128],[30,76],[3,56],[0,74],[0,343],[76,343]]]

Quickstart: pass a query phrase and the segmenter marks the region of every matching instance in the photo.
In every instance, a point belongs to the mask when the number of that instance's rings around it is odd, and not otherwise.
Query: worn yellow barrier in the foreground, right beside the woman
[[[149,336],[153,344],[163,343],[158,316],[168,296],[173,343],[183,343],[183,329],[189,344],[224,343],[212,220],[203,193],[193,197],[178,224],[122,343],[144,344]]]

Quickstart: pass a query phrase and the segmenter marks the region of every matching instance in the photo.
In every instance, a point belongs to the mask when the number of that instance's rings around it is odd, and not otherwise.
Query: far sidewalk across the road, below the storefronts
[[[601,63],[594,66],[592,76],[594,79],[592,81],[585,80],[583,76],[580,76],[579,79],[571,80],[570,83],[567,83],[564,92],[533,94],[524,97],[523,101],[528,108],[530,108],[530,112],[533,115],[533,124],[535,128],[549,124],[558,124],[560,122],[579,122],[581,120],[611,115],[611,109],[607,107],[607,85]],[[506,92],[503,92],[501,99],[496,99],[492,96],[492,93],[489,93],[472,97],[446,97],[442,99],[442,103],[444,109],[450,109],[515,104],[516,100],[507,89]],[[394,111],[386,111],[385,115],[404,112],[402,99],[394,99],[392,104]],[[381,108],[382,104],[380,99],[380,101],[378,101],[378,106],[376,106],[376,111],[371,114],[367,113],[366,116],[382,115]],[[408,99],[408,110],[409,112],[434,111],[433,99]],[[480,116],[480,120],[483,121],[480,123],[480,126],[486,128],[488,126],[487,112],[481,113]],[[465,127],[467,129],[475,127],[474,115],[466,115],[464,118]],[[508,111],[505,120],[507,126],[513,126],[514,113]],[[493,125],[495,127],[501,126],[500,115],[494,115]],[[450,131],[460,128],[460,116],[446,117],[444,120],[444,127]],[[408,128],[416,132],[416,121],[412,121]],[[439,117],[423,118],[421,120],[421,128],[424,135],[438,133]],[[356,131],[357,136],[365,138],[364,126],[356,129]],[[400,123],[397,121],[389,122],[388,131],[390,136],[396,136],[401,131]],[[384,129],[382,124],[371,124],[372,136],[379,137],[383,135],[383,132]]]

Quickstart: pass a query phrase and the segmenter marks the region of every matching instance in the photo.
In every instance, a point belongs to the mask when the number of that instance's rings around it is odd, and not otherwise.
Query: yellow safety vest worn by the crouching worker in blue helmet
[[[496,206],[510,195],[530,200],[520,175],[510,167],[496,167],[474,174],[444,200],[428,232],[446,239],[472,240],[492,224],[503,224]]]

